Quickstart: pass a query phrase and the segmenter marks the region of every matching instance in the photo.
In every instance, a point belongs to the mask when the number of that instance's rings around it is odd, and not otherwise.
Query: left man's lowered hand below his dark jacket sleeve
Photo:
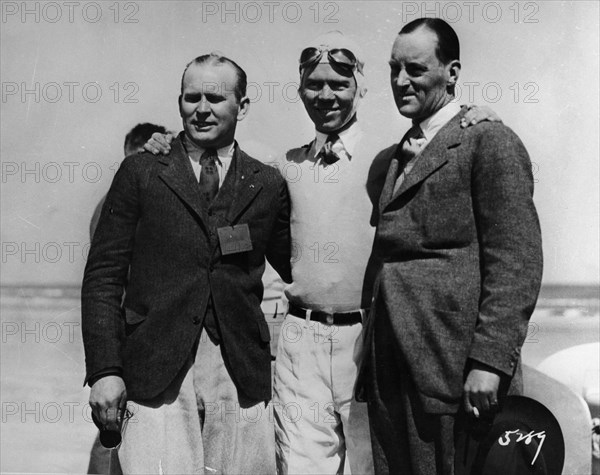
[[[123,378],[111,375],[96,381],[90,392],[90,406],[105,429],[120,430],[127,408],[127,391]]]

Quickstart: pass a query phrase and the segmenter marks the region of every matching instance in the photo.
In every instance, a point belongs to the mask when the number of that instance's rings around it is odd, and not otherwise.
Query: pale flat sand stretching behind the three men
[[[552,296],[551,296],[552,297]],[[83,387],[77,289],[3,288],[2,473],[85,473],[96,429]],[[536,366],[570,346],[598,341],[593,298],[542,298],[523,348]],[[274,341],[280,320],[268,318]]]

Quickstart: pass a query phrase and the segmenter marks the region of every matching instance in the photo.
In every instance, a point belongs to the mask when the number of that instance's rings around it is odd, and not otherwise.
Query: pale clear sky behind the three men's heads
[[[360,121],[398,141],[395,34],[441,16],[461,40],[460,103],[491,106],[533,162],[545,283],[599,282],[599,11],[576,2],[9,2],[1,23],[3,284],[79,284],[88,225],[138,122],[180,130],[180,76],[220,51],[248,73],[237,139],[268,161],[312,139],[297,58],[339,29],[362,46]]]

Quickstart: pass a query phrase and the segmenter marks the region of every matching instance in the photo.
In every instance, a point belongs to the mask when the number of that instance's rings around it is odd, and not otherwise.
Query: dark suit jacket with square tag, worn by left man
[[[241,223],[253,249],[223,256],[217,228]],[[245,396],[269,400],[270,336],[260,310],[265,256],[291,280],[289,198],[276,169],[236,144],[208,207],[180,139],[167,156],[127,157],[83,278],[87,379],[120,368],[130,399],[162,392],[189,358],[212,295],[232,379]]]

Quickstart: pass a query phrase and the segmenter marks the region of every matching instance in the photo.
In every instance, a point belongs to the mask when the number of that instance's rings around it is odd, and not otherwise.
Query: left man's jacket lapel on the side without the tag
[[[160,179],[192,210],[207,231],[206,205],[181,138],[173,141],[171,153],[161,157],[159,161],[167,165],[159,174]]]

